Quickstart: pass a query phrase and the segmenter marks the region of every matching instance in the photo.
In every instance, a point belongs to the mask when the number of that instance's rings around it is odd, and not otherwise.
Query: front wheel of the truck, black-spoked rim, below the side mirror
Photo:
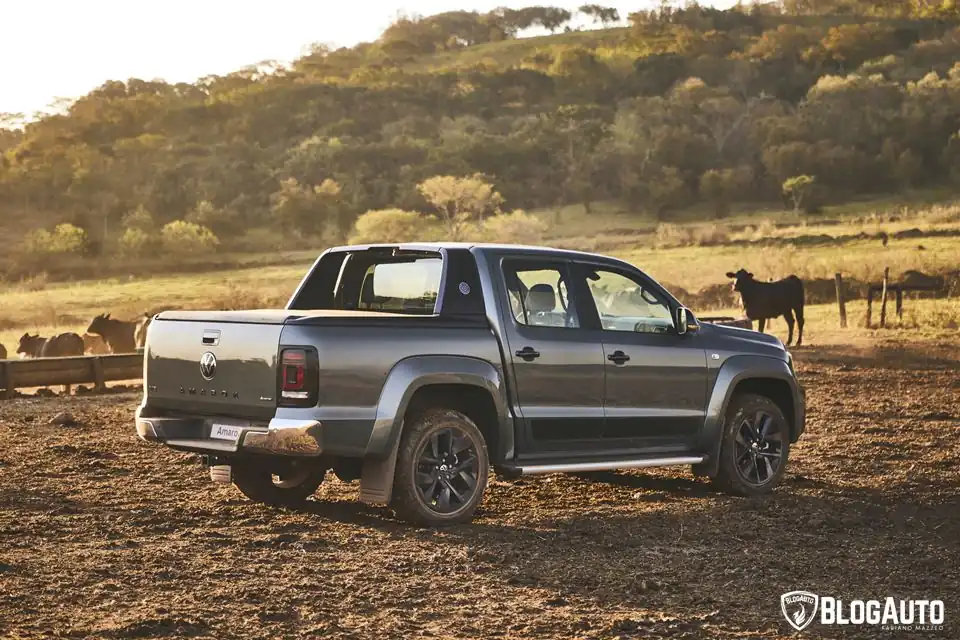
[[[790,455],[790,427],[780,407],[764,396],[733,398],[723,427],[714,484],[740,496],[760,496],[780,483]]]

